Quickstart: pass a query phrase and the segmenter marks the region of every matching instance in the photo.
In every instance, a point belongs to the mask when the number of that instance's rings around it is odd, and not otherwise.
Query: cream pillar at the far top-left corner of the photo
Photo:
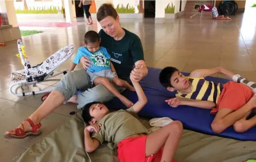
[[[13,0],[4,0],[6,13],[9,20],[9,25],[12,27],[18,27],[17,17],[15,13],[14,1]]]

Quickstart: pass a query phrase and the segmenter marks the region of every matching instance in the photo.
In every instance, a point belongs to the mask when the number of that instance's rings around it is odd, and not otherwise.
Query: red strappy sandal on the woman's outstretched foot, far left
[[[15,128],[14,129],[15,134],[4,133],[4,138],[25,138],[27,136],[39,135],[41,133],[40,130],[36,131],[37,129],[39,129],[42,126],[41,123],[35,125],[30,118],[27,118],[24,121],[28,121],[29,124],[32,126],[32,131],[31,132],[25,132],[24,125],[21,123],[22,129],[21,128]]]

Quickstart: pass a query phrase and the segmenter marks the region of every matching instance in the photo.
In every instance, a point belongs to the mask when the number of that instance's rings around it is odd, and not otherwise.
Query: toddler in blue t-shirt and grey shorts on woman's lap
[[[109,92],[117,96],[124,105],[131,107],[133,103],[121,95],[110,82],[115,83],[117,86],[123,86],[130,91],[134,91],[134,88],[127,81],[117,77],[115,67],[110,61],[110,55],[107,53],[107,49],[100,47],[100,40],[98,33],[93,30],[85,33],[83,47],[78,48],[69,72],[73,71],[76,65],[80,63],[81,57],[88,57],[92,61],[92,66],[86,69],[86,72],[90,76],[91,82],[94,85],[102,84]]]

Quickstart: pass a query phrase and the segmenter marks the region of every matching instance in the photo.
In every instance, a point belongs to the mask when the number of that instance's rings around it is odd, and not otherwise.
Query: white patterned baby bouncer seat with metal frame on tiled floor
[[[25,95],[35,95],[35,94],[51,92],[53,88],[42,90],[42,91],[36,91],[36,92],[32,91],[32,92],[24,93],[22,84],[26,84],[26,85],[32,84],[33,86],[35,86],[35,84],[43,82],[54,76],[58,76],[60,74],[65,75],[67,73],[67,70],[57,72],[56,74],[54,74],[53,71],[74,54],[74,46],[73,45],[65,46],[64,48],[61,48],[60,50],[55,52],[52,56],[48,57],[41,64],[38,64],[32,67],[28,58],[26,57],[24,46],[22,45],[22,41],[20,39],[18,39],[17,45],[18,45],[19,54],[17,54],[16,56],[20,57],[21,64],[24,66],[24,69],[11,73],[10,88],[9,88],[10,93],[16,96],[25,96]],[[22,93],[18,94],[18,93],[12,92],[12,87],[20,84],[21,84]]]

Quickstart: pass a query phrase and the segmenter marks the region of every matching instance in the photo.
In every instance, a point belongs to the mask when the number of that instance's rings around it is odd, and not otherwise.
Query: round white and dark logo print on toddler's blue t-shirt
[[[109,67],[109,59],[102,52],[91,54],[91,60],[96,67]]]

